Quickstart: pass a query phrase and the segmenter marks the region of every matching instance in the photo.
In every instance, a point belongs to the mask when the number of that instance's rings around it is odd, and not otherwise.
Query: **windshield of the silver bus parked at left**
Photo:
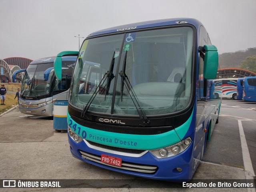
[[[38,97],[49,94],[50,81],[54,71],[49,75],[48,81],[44,80],[46,69],[53,67],[53,63],[29,65],[21,85],[21,95]]]

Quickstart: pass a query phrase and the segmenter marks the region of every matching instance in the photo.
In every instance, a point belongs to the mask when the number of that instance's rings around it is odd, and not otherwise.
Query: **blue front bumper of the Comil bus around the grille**
[[[149,151],[144,151],[142,155],[132,154],[131,156],[129,156],[128,153],[124,155],[122,152],[112,153],[110,150],[108,150],[108,152],[102,152],[101,150],[98,150],[99,148],[95,149],[94,146],[93,148],[89,147],[86,144],[88,142],[85,140],[80,143],[74,142],[69,135],[68,141],[70,144],[70,151],[75,158],[95,166],[132,176],[182,182],[190,180],[195,171],[192,168],[193,141],[184,152],[176,156],[163,159],[156,158]],[[121,158],[122,166],[119,168],[117,166],[101,162],[101,154]],[[182,171],[178,172],[177,168],[181,168]]]

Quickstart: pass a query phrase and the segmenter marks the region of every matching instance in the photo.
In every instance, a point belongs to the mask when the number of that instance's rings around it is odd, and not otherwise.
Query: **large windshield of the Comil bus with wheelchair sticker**
[[[163,115],[192,95],[193,29],[164,28],[85,40],[72,79],[70,104],[90,112]]]

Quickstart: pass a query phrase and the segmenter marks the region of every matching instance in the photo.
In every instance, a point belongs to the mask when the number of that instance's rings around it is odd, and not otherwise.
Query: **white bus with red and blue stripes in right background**
[[[222,81],[222,91],[215,91],[215,97],[236,99],[236,81],[238,78],[219,79]],[[217,95],[218,94],[218,95]]]

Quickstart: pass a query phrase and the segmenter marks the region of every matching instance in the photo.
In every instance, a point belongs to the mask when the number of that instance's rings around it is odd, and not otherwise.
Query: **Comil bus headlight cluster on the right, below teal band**
[[[168,158],[168,157],[180,154],[181,152],[186,150],[186,148],[188,148],[191,142],[192,142],[192,139],[188,137],[180,141],[179,143],[176,143],[164,148],[156,149],[156,150],[150,150],[149,152],[152,155],[154,155],[156,158]]]

